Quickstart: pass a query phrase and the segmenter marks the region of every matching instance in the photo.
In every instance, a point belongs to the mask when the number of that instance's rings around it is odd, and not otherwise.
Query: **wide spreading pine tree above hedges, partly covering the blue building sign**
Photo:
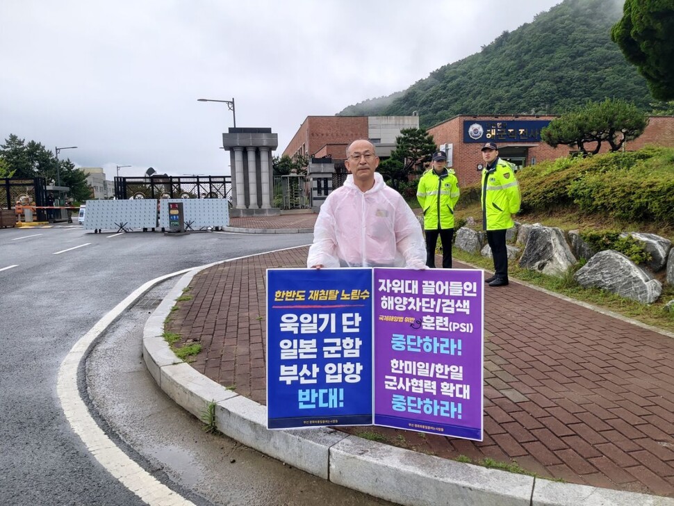
[[[648,116],[634,104],[624,100],[606,99],[589,102],[584,108],[561,115],[541,130],[546,144],[577,146],[586,154],[600,152],[603,142],[611,151],[618,151],[627,140],[639,137],[648,125]],[[595,143],[591,151],[586,145]]]

